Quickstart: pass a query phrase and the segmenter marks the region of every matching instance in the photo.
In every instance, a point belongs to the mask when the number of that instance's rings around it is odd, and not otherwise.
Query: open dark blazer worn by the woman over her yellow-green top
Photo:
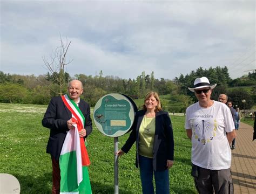
[[[124,146],[121,148],[125,153],[127,153],[133,143],[136,141],[136,167],[138,168],[139,161],[139,127],[142,123],[143,117],[145,115],[145,110],[140,110],[136,113],[134,122],[132,125],[132,131],[127,139]],[[156,171],[163,171],[167,169],[166,161],[173,161],[174,155],[174,141],[173,141],[173,131],[172,123],[169,114],[164,111],[159,111],[156,113],[156,132],[154,135],[154,145],[153,145],[153,169]]]

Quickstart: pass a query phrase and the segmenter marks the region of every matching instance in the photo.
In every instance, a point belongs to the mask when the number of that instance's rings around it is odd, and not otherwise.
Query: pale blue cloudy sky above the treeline
[[[174,79],[227,66],[232,79],[256,69],[255,1],[2,1],[0,71],[48,72],[60,36],[65,71]],[[252,71],[251,71],[252,72]]]

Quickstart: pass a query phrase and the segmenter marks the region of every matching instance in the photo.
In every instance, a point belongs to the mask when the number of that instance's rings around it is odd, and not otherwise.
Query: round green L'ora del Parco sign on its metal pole
[[[118,137],[132,127],[137,106],[124,94],[111,93],[98,100],[93,111],[97,129],[104,135],[114,137],[114,193],[118,194]]]

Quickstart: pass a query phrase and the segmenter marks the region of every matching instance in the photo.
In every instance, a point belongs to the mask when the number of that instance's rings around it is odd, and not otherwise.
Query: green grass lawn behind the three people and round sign
[[[51,193],[51,160],[45,153],[49,129],[42,127],[46,106],[0,103],[0,173],[14,175],[21,193]],[[191,142],[186,137],[184,116],[171,116],[175,142],[170,170],[171,193],[196,193],[191,171]],[[122,147],[129,134],[118,138]],[[89,174],[93,193],[114,193],[113,138],[102,135],[93,124],[87,138],[91,160]],[[141,193],[135,147],[119,159],[119,193]]]

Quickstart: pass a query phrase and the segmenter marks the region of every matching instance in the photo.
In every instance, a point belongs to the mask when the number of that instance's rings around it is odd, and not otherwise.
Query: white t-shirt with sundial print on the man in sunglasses
[[[188,107],[185,129],[192,129],[192,163],[211,170],[230,168],[226,133],[234,128],[230,109],[224,103],[213,101],[211,107],[203,108],[197,102]]]

